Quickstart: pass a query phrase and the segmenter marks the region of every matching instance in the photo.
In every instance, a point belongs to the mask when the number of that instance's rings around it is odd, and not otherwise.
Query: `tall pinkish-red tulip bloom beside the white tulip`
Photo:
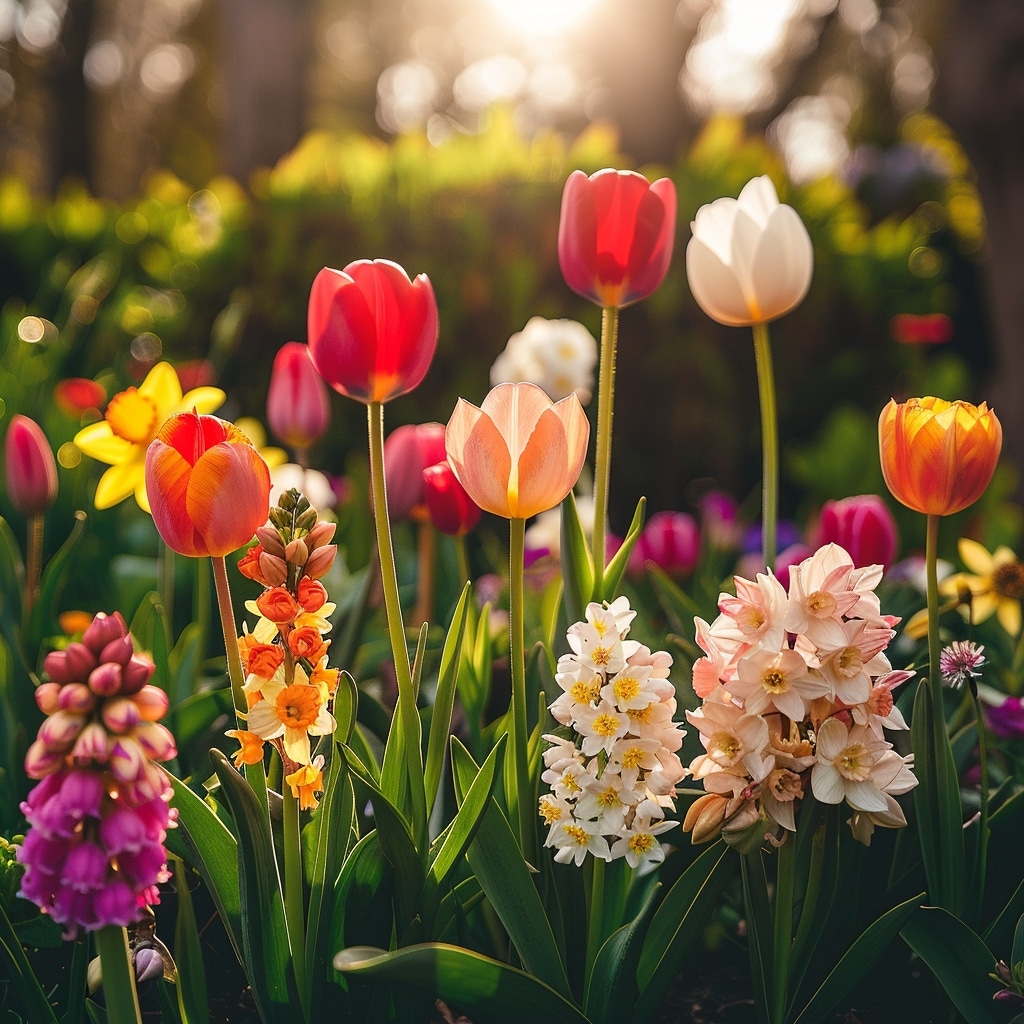
[[[562,193],[558,262],[573,292],[600,306],[645,299],[665,280],[676,237],[676,186],[636,171],[573,171]]]

